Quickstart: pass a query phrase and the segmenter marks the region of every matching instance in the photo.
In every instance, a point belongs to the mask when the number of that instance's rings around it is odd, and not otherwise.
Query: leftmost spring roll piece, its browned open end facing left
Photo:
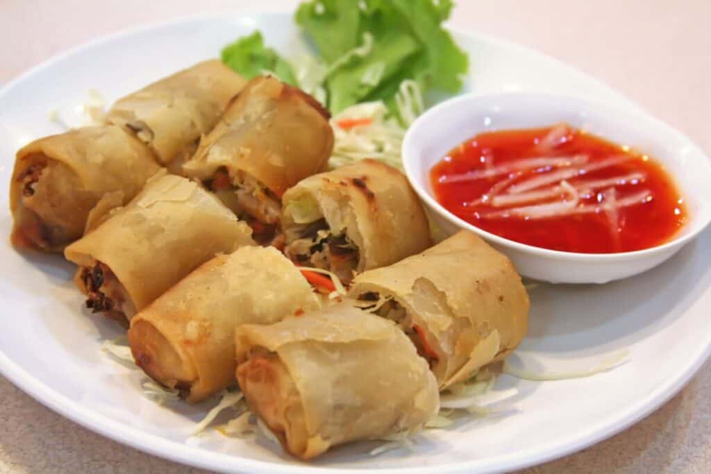
[[[127,203],[158,170],[151,150],[117,126],[33,141],[17,152],[10,183],[13,244],[61,252],[83,235],[104,195]]]

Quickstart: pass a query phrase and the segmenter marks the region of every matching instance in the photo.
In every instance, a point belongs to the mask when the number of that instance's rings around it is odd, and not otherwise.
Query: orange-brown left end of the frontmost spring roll
[[[274,352],[253,348],[237,367],[237,379],[250,408],[291,453],[306,451],[309,438],[304,406],[287,366]]]

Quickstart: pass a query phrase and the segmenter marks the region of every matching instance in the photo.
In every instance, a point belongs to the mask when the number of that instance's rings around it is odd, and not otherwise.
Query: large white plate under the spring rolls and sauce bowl
[[[8,182],[14,152],[58,132],[48,111],[80,104],[90,89],[112,100],[198,60],[214,57],[237,36],[258,28],[293,57],[306,50],[289,14],[219,14],[164,23],[73,50],[0,91],[0,233],[9,235]],[[556,92],[635,107],[581,72],[539,53],[478,34],[458,32],[471,55],[467,89],[477,93]],[[711,350],[711,233],[634,279],[605,286],[539,286],[531,292],[530,332],[520,349],[537,369],[587,365],[628,348],[631,360],[587,379],[523,382],[503,376],[498,388],[519,394],[502,416],[432,431],[415,453],[377,458],[373,443],[339,448],[316,460],[321,473],[353,468],[429,472],[510,470],[563,456],[633,424],[688,382]],[[59,258],[18,254],[0,245],[0,369],[43,404],[89,429],[164,458],[213,470],[304,473],[309,465],[262,441],[211,433],[186,443],[207,405],[161,407],[144,397],[141,373],[100,352],[122,331],[80,310],[73,269]],[[564,362],[568,361],[568,362]],[[587,363],[585,362],[587,361]]]

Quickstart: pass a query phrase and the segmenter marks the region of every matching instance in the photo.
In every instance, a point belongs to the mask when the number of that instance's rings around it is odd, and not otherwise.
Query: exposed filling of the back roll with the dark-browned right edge
[[[280,234],[282,200],[253,176],[237,171],[230,177],[227,168],[219,168],[205,183],[237,217],[247,222],[260,244],[273,244]]]

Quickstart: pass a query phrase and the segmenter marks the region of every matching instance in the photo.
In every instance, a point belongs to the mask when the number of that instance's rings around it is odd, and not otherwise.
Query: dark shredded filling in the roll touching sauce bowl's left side
[[[343,232],[333,233],[326,219],[294,228],[298,238],[284,247],[284,254],[299,266],[314,266],[333,272],[348,285],[358,268],[358,247]]]

